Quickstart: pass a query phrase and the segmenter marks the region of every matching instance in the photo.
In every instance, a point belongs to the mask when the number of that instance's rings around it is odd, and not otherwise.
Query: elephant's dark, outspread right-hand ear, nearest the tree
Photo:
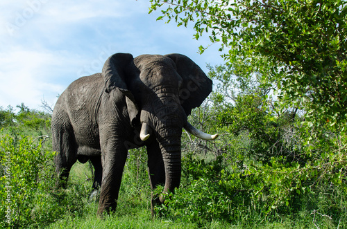
[[[174,60],[177,72],[183,78],[180,104],[188,116],[192,109],[200,107],[203,100],[211,93],[212,80],[189,57],[176,53],[165,56]]]

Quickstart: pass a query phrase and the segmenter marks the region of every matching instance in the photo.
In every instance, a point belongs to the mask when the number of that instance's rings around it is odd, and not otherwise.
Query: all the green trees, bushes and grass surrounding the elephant
[[[0,107],[0,227],[347,228],[346,1],[151,2],[227,51],[189,116],[220,137],[183,134],[181,185],[155,219],[146,152],[130,151],[117,211],[98,219],[89,163],[54,189],[49,113]]]

